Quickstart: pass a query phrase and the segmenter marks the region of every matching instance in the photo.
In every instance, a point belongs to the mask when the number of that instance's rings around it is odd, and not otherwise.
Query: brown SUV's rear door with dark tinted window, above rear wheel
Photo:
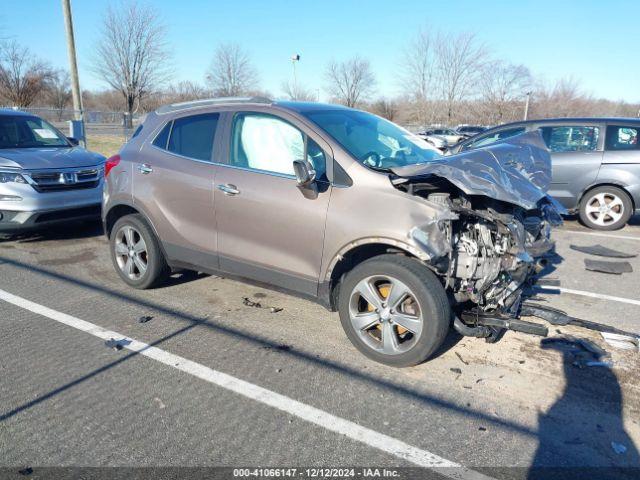
[[[213,146],[218,113],[168,122],[133,167],[136,203],[170,260],[217,269]]]

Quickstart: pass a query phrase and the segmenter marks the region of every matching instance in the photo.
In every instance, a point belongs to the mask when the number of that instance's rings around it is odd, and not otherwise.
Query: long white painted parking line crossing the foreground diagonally
[[[226,373],[213,370],[205,365],[193,362],[146,343],[139,342],[138,340],[126,337],[118,332],[107,330],[98,325],[87,322],[86,320],[81,320],[71,315],[67,315],[66,313],[45,307],[44,305],[31,302],[4,290],[0,290],[0,300],[4,300],[5,302],[11,303],[17,307],[24,308],[25,310],[37,313],[38,315],[50,318],[51,320],[55,320],[56,322],[81,330],[85,333],[89,333],[103,340],[110,340],[112,338],[124,340],[125,342],[123,342],[123,347],[128,350],[137,352],[140,355],[144,355],[145,357],[156,360],[164,365],[181,370],[213,385],[217,385],[257,402],[269,405],[270,407],[276,408],[290,415],[294,415],[326,430],[339,433],[352,440],[356,440],[370,447],[407,460],[415,465],[431,468],[446,477],[477,480],[488,480],[490,478],[467,467],[463,467],[458,463],[442,458],[434,453],[411,446],[401,440],[376,432],[349,420],[336,417],[335,415],[304,404],[285,395],[267,390],[266,388],[254,385]]]

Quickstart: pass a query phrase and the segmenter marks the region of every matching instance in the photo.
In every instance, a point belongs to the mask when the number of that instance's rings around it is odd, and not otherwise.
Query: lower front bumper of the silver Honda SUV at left
[[[69,221],[98,219],[100,211],[99,203],[82,207],[30,212],[0,210],[0,233],[19,233]]]

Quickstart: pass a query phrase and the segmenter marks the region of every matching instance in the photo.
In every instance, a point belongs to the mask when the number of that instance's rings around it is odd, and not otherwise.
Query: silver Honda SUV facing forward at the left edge
[[[99,218],[104,160],[37,116],[0,110],[0,234]]]

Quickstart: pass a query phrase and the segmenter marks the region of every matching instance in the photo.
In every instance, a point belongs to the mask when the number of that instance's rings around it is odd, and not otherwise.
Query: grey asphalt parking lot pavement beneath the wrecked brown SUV
[[[547,275],[560,286],[544,288],[544,303],[640,334],[640,257],[612,276],[587,272],[591,257],[569,248],[640,253],[634,223],[598,234],[568,221]],[[633,478],[640,355],[584,329],[550,331],[598,343],[613,367],[580,368],[561,342],[508,332],[496,344],[452,333],[433,360],[392,369],[306,300],[195,273],[128,289],[97,224],[0,242],[0,476],[421,466],[454,478],[551,478],[544,467]]]

